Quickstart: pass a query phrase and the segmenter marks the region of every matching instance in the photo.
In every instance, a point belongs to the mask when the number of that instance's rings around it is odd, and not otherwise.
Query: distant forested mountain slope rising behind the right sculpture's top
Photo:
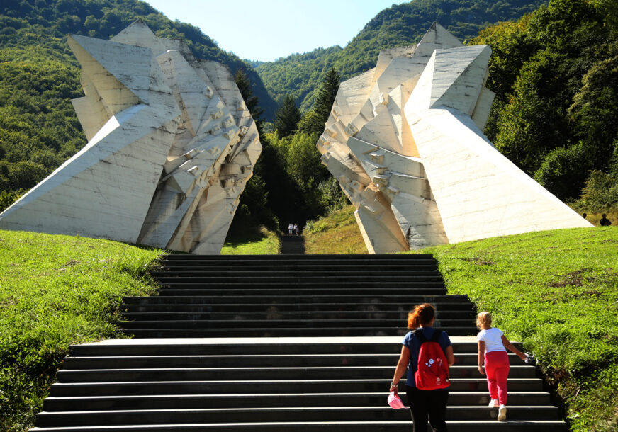
[[[291,94],[301,111],[313,106],[324,74],[335,67],[348,79],[376,65],[380,50],[418,42],[434,21],[461,40],[498,21],[516,20],[546,0],[414,0],[393,5],[373,18],[343,49],[319,48],[257,67],[271,96],[281,103]]]

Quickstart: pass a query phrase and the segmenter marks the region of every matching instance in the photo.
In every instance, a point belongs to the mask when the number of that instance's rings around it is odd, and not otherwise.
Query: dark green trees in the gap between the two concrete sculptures
[[[238,72],[237,85],[247,108],[257,120],[262,155],[240,197],[231,236],[265,224],[284,230],[290,222],[305,222],[348,203],[339,183],[322,165],[315,144],[324,131],[341,77],[330,69],[320,86],[315,108],[301,114],[296,101],[286,96],[276,111],[274,123],[264,123],[247,76]],[[256,115],[257,114],[257,115]]]

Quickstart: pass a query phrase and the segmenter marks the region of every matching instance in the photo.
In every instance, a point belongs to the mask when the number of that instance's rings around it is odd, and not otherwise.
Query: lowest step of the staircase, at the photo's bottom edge
[[[456,432],[566,432],[566,424],[556,420],[449,420],[449,431]],[[60,428],[33,428],[30,431],[106,431],[106,432],[167,432],[167,431],[251,431],[251,432],[287,432],[287,431],[338,431],[338,432],[410,432],[412,421],[282,421],[264,423],[223,423],[223,424],[176,424],[176,425],[121,425],[121,426],[76,426]]]

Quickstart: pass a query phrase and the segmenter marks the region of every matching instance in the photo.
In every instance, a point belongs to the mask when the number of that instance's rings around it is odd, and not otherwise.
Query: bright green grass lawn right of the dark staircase
[[[449,294],[523,341],[573,431],[618,430],[618,227],[559,229],[424,249]]]

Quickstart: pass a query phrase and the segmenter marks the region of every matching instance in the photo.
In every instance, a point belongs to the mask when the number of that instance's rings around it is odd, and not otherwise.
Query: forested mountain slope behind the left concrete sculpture
[[[276,107],[247,63],[193,25],[171,21],[139,0],[0,2],[0,208],[7,193],[34,186],[86,144],[70,98],[83,96],[67,34],[108,39],[137,18],[162,38],[182,38],[193,54],[244,69],[267,110]],[[3,205],[4,204],[4,205]]]

